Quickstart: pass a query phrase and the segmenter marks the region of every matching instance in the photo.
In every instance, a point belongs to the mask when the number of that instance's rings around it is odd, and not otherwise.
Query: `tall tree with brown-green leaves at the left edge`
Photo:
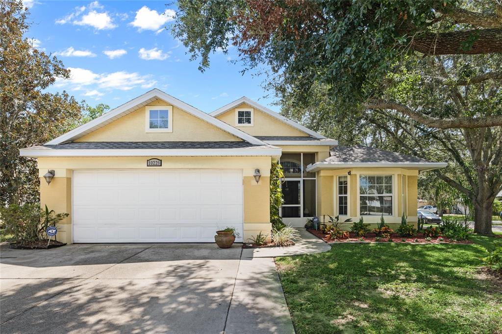
[[[70,71],[33,47],[28,16],[21,1],[0,4],[0,206],[39,202],[37,162],[19,149],[57,137],[80,117],[72,96],[48,92]]]

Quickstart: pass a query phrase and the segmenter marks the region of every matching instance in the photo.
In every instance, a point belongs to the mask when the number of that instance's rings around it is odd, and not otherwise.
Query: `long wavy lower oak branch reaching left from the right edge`
[[[404,104],[392,102],[375,100],[368,101],[363,104],[364,109],[392,109],[407,115],[411,119],[416,120],[422,124],[438,129],[451,129],[451,128],[479,128],[488,126],[500,126],[502,125],[502,115],[489,116],[489,117],[459,117],[459,118],[436,118],[426,115],[420,111],[412,110],[411,108],[405,106]]]

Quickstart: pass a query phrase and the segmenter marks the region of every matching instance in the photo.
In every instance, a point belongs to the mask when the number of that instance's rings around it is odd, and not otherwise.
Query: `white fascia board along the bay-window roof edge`
[[[412,168],[430,171],[445,168],[446,162],[316,162],[307,166],[307,172],[336,170],[343,168]]]

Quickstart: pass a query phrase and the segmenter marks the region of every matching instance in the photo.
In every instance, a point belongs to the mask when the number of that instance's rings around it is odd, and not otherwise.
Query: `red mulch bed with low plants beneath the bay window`
[[[322,239],[326,243],[332,243],[332,242],[377,242],[375,240],[376,236],[374,233],[366,233],[364,236],[363,241],[359,241],[359,237],[355,234],[350,232],[349,233],[349,238],[348,239],[328,239],[327,234],[323,233],[320,230],[314,230],[314,229],[307,229],[310,233],[318,237],[319,239]],[[424,243],[424,244],[439,244],[439,243],[452,243],[452,244],[472,244],[471,240],[461,240],[461,241],[454,241],[452,239],[442,237],[443,241],[439,241],[437,238],[432,238],[431,241],[425,240],[425,236],[422,232],[418,232],[416,236],[414,237],[401,237],[397,233],[391,234],[392,242],[395,243]],[[406,239],[406,241],[403,241],[403,239]],[[415,241],[417,239],[418,241]],[[390,242],[389,239],[384,239],[381,238],[378,242]]]

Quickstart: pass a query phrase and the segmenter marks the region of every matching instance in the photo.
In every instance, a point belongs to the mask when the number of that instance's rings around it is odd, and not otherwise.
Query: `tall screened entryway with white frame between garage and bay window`
[[[283,153],[280,162],[285,177],[282,184],[283,222],[303,226],[307,218],[316,215],[316,174],[305,171],[315,162],[315,153]]]

